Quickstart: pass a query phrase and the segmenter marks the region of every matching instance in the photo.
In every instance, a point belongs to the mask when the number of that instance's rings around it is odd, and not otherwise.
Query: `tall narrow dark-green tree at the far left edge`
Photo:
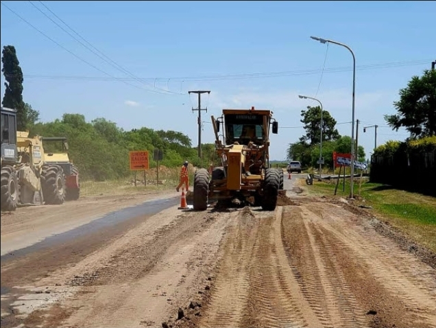
[[[16,125],[19,130],[27,128],[27,108],[23,102],[23,71],[16,57],[13,45],[5,45],[1,51],[1,72],[5,76],[5,94],[1,104],[8,108],[16,109]]]

